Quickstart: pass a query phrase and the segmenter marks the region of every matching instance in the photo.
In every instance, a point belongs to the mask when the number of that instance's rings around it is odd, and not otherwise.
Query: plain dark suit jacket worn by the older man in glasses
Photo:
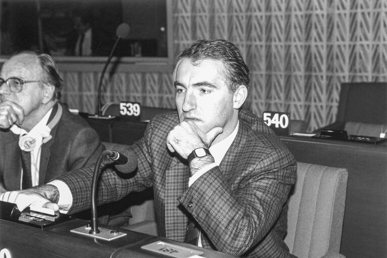
[[[54,109],[49,120],[57,107]],[[62,110],[59,122],[51,130],[53,138],[41,146],[39,184],[49,182],[63,172],[91,165],[105,148],[83,118],[71,114],[64,105]],[[0,131],[0,182],[8,191],[20,190],[20,152],[19,135],[10,130]]]

